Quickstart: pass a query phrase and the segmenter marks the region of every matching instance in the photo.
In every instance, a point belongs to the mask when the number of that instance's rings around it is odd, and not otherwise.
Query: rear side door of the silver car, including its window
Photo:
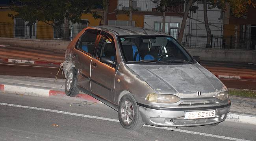
[[[90,66],[99,33],[99,30],[87,29],[80,37],[76,47],[76,54],[73,55],[77,60],[75,66],[78,69],[78,85],[88,91],[91,91]]]

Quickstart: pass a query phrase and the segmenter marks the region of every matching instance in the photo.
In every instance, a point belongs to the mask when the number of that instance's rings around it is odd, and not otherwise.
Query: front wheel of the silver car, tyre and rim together
[[[128,130],[139,130],[143,127],[139,108],[132,94],[125,94],[118,105],[118,118],[122,127]]]

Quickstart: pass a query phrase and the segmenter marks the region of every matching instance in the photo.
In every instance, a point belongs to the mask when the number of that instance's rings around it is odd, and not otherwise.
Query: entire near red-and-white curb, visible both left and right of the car
[[[49,98],[52,96],[61,96],[61,97],[69,98],[68,96],[66,96],[65,92],[60,90],[38,89],[38,88],[21,87],[21,86],[15,86],[15,85],[0,84],[0,91],[12,92],[15,94],[31,95],[31,96],[41,96],[46,98]],[[101,103],[100,101],[89,96],[88,94],[78,94],[75,98],[83,99],[93,103]],[[226,117],[226,121],[256,125],[256,115],[230,112]]]

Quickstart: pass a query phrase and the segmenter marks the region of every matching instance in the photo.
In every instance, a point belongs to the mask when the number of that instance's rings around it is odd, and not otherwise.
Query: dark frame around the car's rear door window
[[[89,53],[89,52],[83,51],[82,49],[79,48],[79,45],[80,45],[80,42],[81,42],[81,38],[82,38],[82,36],[84,36],[85,32],[87,32],[87,31],[97,31],[97,32],[98,32],[97,37],[96,37],[96,39],[95,39],[94,49],[93,49],[92,54]],[[81,51],[81,52],[83,52],[83,53],[85,53],[85,54],[87,54],[87,55],[93,57],[94,54],[95,54],[96,45],[98,44],[98,38],[99,38],[99,36],[100,36],[100,30],[98,30],[98,29],[86,29],[86,30],[83,32],[83,34],[79,37],[78,43],[76,43],[76,47],[75,47],[75,48],[76,48],[78,51]]]

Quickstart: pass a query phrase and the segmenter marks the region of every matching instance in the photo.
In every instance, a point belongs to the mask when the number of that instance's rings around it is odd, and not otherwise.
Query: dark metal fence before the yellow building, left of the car
[[[37,25],[26,26],[26,22],[19,20],[13,23],[0,23],[0,37],[7,38],[31,38],[43,40],[63,40],[64,29],[63,25]],[[70,24],[67,29],[69,32],[69,40],[72,40],[87,24]]]

